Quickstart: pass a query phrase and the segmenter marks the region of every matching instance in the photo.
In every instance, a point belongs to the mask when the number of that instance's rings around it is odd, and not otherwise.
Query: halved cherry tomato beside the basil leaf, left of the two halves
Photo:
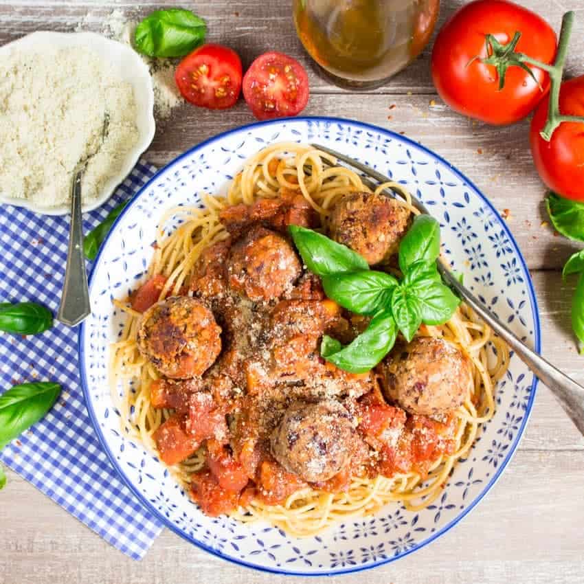
[[[235,105],[241,91],[241,60],[229,47],[203,45],[181,60],[175,81],[192,104],[227,109]]]

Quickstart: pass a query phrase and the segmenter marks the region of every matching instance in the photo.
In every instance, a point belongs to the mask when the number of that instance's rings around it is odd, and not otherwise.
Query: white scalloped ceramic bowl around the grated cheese
[[[115,188],[130,174],[139,156],[150,146],[154,137],[156,125],[153,115],[154,90],[148,67],[139,55],[127,45],[112,41],[93,32],[48,32],[39,31],[23,36],[0,47],[0,58],[14,50],[34,51],[39,47],[49,45],[52,48],[71,49],[76,47],[89,49],[107,60],[114,67],[120,78],[133,88],[136,102],[136,126],[139,137],[131,150],[128,150],[120,166],[120,172],[112,175],[104,182],[100,194],[83,205],[83,211],[91,211],[100,207],[113,193]],[[74,132],[74,128],[71,128]],[[34,212],[46,215],[64,215],[70,212],[70,205],[43,206],[27,199],[15,198],[0,194],[0,203],[8,203],[25,207]]]

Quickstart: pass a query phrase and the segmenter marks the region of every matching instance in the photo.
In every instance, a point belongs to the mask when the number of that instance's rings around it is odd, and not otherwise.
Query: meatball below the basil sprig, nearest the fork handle
[[[439,416],[464,402],[473,383],[471,362],[444,339],[416,337],[381,365],[384,392],[410,414]]]

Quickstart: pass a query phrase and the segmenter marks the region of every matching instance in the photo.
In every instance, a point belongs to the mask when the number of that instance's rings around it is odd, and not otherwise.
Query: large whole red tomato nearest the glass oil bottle
[[[548,74],[532,67],[543,91],[527,71],[508,67],[505,86],[488,56],[485,35],[508,43],[521,32],[516,51],[552,63],[556,34],[540,16],[512,2],[477,0],[462,6],[438,33],[432,51],[432,78],[440,97],[452,109],[488,124],[512,124],[532,111],[549,89]],[[474,59],[474,60],[473,60]]]

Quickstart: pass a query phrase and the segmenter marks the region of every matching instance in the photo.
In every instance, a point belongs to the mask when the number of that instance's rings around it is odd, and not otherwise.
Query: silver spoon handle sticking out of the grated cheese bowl
[[[75,171],[71,185],[71,225],[69,226],[69,251],[65,282],[57,318],[60,322],[75,326],[91,314],[85,256],[83,255],[83,223],[81,214],[81,179],[85,165]]]

